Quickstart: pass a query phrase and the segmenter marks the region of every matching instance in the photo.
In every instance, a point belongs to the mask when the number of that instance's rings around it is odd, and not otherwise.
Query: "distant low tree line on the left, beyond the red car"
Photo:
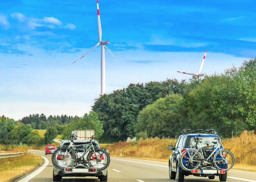
[[[27,144],[44,145],[53,143],[53,139],[59,134],[62,139],[70,138],[72,130],[94,129],[96,136],[103,134],[102,123],[95,112],[84,114],[83,117],[49,116],[33,114],[14,121],[5,116],[0,117],[0,143],[2,144]],[[38,130],[46,129],[44,136],[40,136]]]

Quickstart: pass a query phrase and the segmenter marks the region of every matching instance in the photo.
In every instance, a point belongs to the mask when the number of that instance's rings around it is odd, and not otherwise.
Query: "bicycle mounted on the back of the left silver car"
[[[90,137],[90,146],[86,151],[82,152],[78,156],[78,149],[76,147],[88,145],[75,145],[74,139],[76,135],[71,136],[70,144],[68,147],[58,148],[52,155],[52,164],[58,169],[65,169],[67,167],[75,167],[78,164],[83,164],[86,166],[88,164],[90,167],[96,168],[97,170],[104,170],[110,164],[110,156],[108,152],[103,149],[94,149],[95,139],[94,135]],[[86,160],[85,160],[86,158]]]

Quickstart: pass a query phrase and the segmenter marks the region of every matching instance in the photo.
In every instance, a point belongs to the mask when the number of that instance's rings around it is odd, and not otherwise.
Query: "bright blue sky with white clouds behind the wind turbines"
[[[256,56],[253,0],[99,0],[106,93],[129,83],[222,73]],[[89,112],[100,94],[96,0],[1,0],[0,115]]]

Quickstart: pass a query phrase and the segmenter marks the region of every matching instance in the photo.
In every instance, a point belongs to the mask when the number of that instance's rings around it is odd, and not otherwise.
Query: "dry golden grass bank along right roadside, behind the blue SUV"
[[[171,151],[168,145],[175,145],[175,139],[142,138],[135,142],[118,142],[106,145],[111,156],[141,158],[150,160],[168,161]],[[233,169],[256,171],[256,135],[254,132],[243,132],[236,138],[222,139],[225,148],[231,149],[235,156]],[[253,160],[252,160],[253,159]]]

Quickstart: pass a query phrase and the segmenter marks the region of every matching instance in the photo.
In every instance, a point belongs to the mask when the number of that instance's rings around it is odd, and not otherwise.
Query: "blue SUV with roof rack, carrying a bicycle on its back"
[[[199,177],[208,177],[209,179],[214,179],[215,176],[219,176],[220,181],[227,180],[227,171],[219,171],[213,165],[213,155],[209,159],[208,163],[200,167],[198,170],[184,170],[179,164],[180,155],[186,149],[195,147],[195,138],[200,137],[200,143],[202,146],[210,146],[211,143],[216,143],[216,138],[218,135],[213,129],[207,130],[190,130],[184,129],[181,131],[181,135],[177,138],[176,144],[173,147],[172,145],[168,146],[169,150],[173,150],[169,158],[169,177],[171,180],[174,180],[177,175],[177,181],[183,182],[184,176],[195,175]],[[220,140],[219,140],[220,142]],[[223,148],[223,147],[222,147]],[[209,155],[213,151],[212,148],[205,147],[204,154],[205,156]]]

